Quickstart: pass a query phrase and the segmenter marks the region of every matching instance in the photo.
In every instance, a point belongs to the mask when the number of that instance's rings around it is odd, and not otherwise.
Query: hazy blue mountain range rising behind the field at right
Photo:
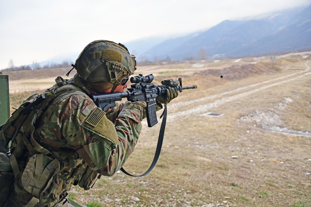
[[[311,5],[248,20],[225,20],[201,33],[171,38],[138,56],[142,60],[209,59],[311,49]],[[141,58],[139,58],[141,57]]]

